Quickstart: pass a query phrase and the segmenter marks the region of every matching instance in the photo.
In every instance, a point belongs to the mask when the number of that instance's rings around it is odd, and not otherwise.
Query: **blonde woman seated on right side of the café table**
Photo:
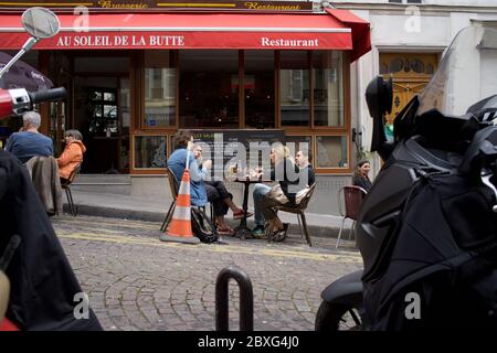
[[[299,169],[289,158],[288,148],[282,143],[276,143],[271,149],[271,163],[274,168],[271,171],[271,180],[278,181],[273,188],[257,183],[254,186],[254,207],[255,207],[255,227],[252,235],[261,237],[265,233],[266,223],[274,225],[274,235],[276,238],[284,238],[288,229],[288,223],[282,223],[274,206],[293,203],[299,185]],[[293,171],[293,175],[290,172]],[[262,174],[257,175],[258,178]],[[307,186],[304,185],[300,189]]]

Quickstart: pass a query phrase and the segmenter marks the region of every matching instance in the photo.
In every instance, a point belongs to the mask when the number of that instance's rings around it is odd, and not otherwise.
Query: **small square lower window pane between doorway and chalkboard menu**
[[[166,168],[166,136],[135,136],[135,168]]]

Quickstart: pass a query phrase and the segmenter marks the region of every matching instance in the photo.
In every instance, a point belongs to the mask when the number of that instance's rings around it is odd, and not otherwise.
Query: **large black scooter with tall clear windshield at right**
[[[496,52],[496,31],[461,31],[390,141],[392,82],[369,84],[371,151],[384,164],[356,226],[364,268],[322,291],[317,331],[497,328],[497,85],[482,83],[493,95],[476,104],[462,94]]]

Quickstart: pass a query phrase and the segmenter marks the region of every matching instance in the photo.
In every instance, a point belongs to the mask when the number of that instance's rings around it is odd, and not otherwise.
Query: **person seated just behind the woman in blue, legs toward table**
[[[209,165],[212,164],[211,160],[202,162],[202,147],[199,143],[193,147],[193,156],[200,170],[204,170],[204,163],[209,163]],[[214,206],[215,221],[219,225],[218,232],[220,234],[232,235],[233,229],[226,224],[224,215],[228,213],[228,208],[231,208],[231,211],[233,211],[233,218],[240,220],[244,216],[243,210],[233,203],[233,195],[228,191],[222,181],[204,179],[203,186],[205,188],[209,202],[212,202]],[[252,213],[247,212],[247,217],[252,215]]]

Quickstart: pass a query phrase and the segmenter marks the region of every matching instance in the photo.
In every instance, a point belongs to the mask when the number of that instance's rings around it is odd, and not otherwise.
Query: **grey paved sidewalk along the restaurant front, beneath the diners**
[[[135,221],[161,222],[169,208],[170,199],[158,200],[150,196],[133,196],[121,194],[106,194],[94,192],[73,191],[74,203],[77,206],[78,214],[91,216],[103,216],[114,218],[126,218]],[[64,196],[64,202],[66,202]],[[253,210],[252,210],[253,211]],[[297,215],[282,212],[279,213],[283,222],[290,223],[290,232],[299,233]],[[232,226],[239,221],[231,220],[231,212],[228,217]],[[253,217],[248,218],[248,226],[253,226]],[[307,225],[311,236],[337,237],[341,217],[335,215],[306,213]],[[345,234],[349,235],[352,222],[346,220]]]

